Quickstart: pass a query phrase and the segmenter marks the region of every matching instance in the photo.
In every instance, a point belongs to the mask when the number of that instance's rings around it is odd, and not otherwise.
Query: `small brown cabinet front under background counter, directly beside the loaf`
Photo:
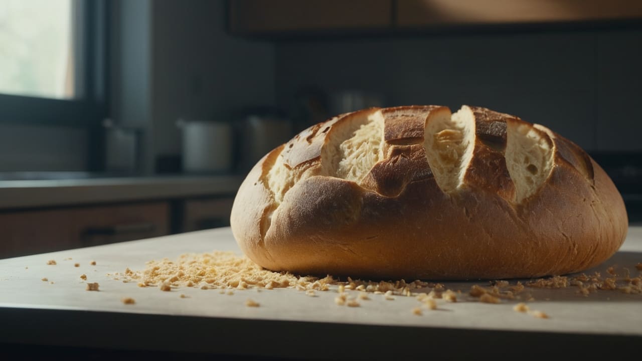
[[[183,232],[230,225],[234,198],[205,198],[184,201]]]

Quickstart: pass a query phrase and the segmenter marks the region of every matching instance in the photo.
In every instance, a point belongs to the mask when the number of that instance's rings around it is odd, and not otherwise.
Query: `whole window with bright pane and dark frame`
[[[105,0],[0,0],[0,123],[96,126],[107,114]]]

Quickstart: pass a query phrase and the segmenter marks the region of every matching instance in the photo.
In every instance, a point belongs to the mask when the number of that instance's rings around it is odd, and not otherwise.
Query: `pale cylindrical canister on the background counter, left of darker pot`
[[[221,173],[232,169],[229,123],[179,119],[183,131],[182,163],[186,173]]]

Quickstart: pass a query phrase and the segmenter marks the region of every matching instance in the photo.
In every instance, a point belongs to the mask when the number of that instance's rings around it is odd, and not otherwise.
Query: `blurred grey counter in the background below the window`
[[[234,195],[242,181],[238,175],[0,180],[0,209]]]

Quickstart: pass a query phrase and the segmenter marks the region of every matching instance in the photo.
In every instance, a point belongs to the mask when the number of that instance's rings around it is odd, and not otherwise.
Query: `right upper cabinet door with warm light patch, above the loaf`
[[[630,0],[399,0],[399,27],[518,24],[634,19],[642,2]]]

